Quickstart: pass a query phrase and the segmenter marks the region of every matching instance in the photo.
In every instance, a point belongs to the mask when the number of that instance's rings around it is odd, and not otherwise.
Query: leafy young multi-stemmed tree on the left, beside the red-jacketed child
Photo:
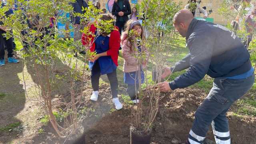
[[[68,138],[75,134],[81,127],[82,120],[87,116],[88,110],[82,105],[87,72],[85,62],[92,58],[95,52],[90,52],[88,50],[90,46],[84,47],[81,42],[64,40],[60,36],[63,30],[56,29],[57,23],[70,21],[70,18],[66,17],[70,13],[79,16],[85,25],[95,24],[101,33],[108,32],[112,26],[111,21],[98,21],[99,10],[91,3],[88,8],[83,8],[86,13],[72,13],[72,2],[74,0],[15,0],[15,3],[13,0],[8,0],[7,5],[0,9],[0,21],[6,28],[6,38],[13,37],[22,43],[24,47],[22,64],[31,68],[34,75],[35,98],[29,97],[26,76],[23,75],[26,96],[42,104],[52,127],[60,138]],[[6,17],[6,10],[13,8],[14,4],[14,14]],[[84,28],[83,32],[90,34],[88,27]],[[86,54],[74,57],[74,52],[81,50],[86,50]],[[64,74],[57,74],[60,64],[67,68]],[[68,98],[63,96],[64,106],[59,111],[65,119],[62,124],[59,124],[54,116],[56,109],[52,102],[56,92],[61,91],[60,88],[62,92],[68,94]]]

